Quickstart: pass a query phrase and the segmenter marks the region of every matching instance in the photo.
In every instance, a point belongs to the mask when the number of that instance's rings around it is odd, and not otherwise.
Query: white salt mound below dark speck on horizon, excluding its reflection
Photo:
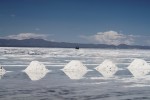
[[[66,71],[87,71],[87,68],[78,60],[70,61],[63,70]]]

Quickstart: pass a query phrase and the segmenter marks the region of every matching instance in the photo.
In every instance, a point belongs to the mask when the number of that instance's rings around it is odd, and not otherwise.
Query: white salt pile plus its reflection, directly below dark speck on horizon
[[[87,73],[88,69],[86,66],[82,64],[82,62],[78,60],[70,61],[62,71],[70,78],[70,79],[82,79],[83,76]]]

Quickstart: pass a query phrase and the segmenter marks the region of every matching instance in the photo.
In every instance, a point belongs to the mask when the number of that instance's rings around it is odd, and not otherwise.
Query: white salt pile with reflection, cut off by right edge
[[[142,59],[135,59],[128,69],[134,77],[142,77],[150,72],[150,65]]]

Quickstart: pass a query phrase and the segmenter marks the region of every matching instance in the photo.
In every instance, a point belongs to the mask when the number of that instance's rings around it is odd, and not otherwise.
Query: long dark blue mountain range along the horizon
[[[0,39],[0,47],[50,47],[50,48],[109,48],[109,49],[150,49],[150,46],[140,45],[107,45],[107,44],[81,44],[67,42],[52,42],[43,39]]]

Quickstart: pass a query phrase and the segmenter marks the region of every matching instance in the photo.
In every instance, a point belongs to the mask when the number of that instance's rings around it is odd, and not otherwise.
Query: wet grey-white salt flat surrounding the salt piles
[[[134,58],[149,63],[149,50],[1,48],[0,54],[1,65],[11,71],[1,76],[0,100],[150,100],[150,76],[134,78],[127,69]],[[105,59],[119,68],[113,77],[94,69]],[[32,80],[22,72],[32,60],[43,62],[51,72]],[[89,69],[81,79],[72,80],[60,70],[71,60]]]

